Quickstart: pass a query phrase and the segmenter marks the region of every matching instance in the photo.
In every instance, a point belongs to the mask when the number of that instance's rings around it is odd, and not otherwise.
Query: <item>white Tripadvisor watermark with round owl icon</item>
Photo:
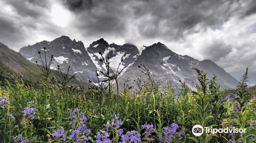
[[[201,125],[195,125],[193,128],[192,128],[192,133],[195,135],[195,136],[200,136],[204,133],[204,131],[206,133],[212,133],[212,134],[216,134],[216,133],[245,133],[246,129],[238,129],[238,128],[220,128],[220,129],[217,129],[217,128],[209,128],[209,127],[202,127]]]

